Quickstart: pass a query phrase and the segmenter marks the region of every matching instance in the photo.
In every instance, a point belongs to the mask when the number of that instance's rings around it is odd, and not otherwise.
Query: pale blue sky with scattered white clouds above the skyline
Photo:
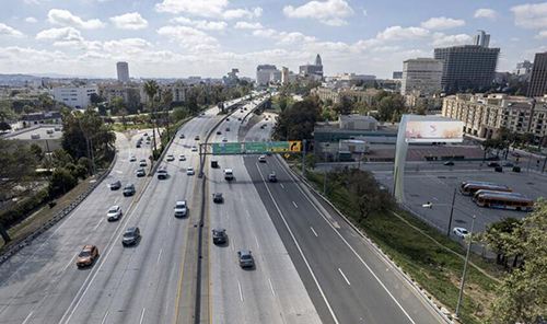
[[[510,0],[0,0],[0,73],[255,77],[298,71],[317,53],[327,76],[391,78],[403,60],[469,44],[500,47],[498,71],[547,50],[547,2]]]

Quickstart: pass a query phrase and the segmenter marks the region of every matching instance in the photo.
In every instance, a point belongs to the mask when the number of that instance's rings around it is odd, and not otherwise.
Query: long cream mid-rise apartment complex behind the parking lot
[[[450,95],[443,100],[442,115],[464,121],[464,132],[484,139],[494,137],[501,127],[536,138],[547,135],[547,96]]]

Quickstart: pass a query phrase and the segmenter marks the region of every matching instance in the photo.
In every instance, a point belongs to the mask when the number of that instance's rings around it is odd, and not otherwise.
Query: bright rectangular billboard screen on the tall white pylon
[[[462,142],[464,121],[459,120],[408,120],[407,142]]]

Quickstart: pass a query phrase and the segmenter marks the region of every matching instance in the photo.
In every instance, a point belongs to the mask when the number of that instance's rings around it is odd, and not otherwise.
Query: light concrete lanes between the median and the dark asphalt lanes
[[[238,118],[246,113],[235,112],[219,127],[221,135],[214,135],[211,142],[220,142],[222,138],[228,142],[236,141]],[[229,235],[228,244],[209,245],[212,323],[321,323],[268,211],[252,185],[243,158],[217,155],[212,159],[218,160],[219,167],[206,167],[208,217],[211,229],[223,228]],[[224,169],[232,169],[235,178],[225,181]],[[222,193],[224,202],[213,204],[212,193]],[[236,253],[242,248],[253,253],[256,265],[251,269],[242,269],[238,265]]]

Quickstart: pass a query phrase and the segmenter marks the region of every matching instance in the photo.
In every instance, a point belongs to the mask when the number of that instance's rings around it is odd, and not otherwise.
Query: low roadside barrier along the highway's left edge
[[[116,152],[116,151],[115,151]],[[105,177],[110,174],[112,170],[114,169],[114,164],[116,164],[118,155],[115,153],[114,160],[110,163],[110,166],[104,172],[91,186],[89,186],[78,198],[74,199],[68,207],[66,207],[62,211],[57,213],[53,219],[50,219],[48,222],[43,224],[39,229],[34,231],[31,235],[28,235],[26,239],[18,243],[16,245],[12,246],[8,252],[5,252],[2,256],[0,256],[0,266],[5,263],[10,257],[15,255],[19,251],[23,250],[23,247],[31,245],[36,238],[42,235],[45,231],[48,229],[53,228],[56,223],[65,219],[68,215],[74,210],[88,196],[103,182]]]

